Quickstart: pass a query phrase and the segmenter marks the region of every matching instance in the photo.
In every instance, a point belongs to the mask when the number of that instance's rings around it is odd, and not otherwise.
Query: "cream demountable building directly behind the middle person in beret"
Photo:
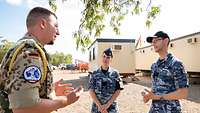
[[[135,40],[134,39],[96,39],[89,50],[89,72],[100,67],[101,56],[106,48],[112,48],[111,66],[123,76],[135,74]]]

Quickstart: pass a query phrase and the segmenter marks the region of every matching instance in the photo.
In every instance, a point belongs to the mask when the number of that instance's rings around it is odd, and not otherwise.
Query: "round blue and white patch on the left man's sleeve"
[[[29,66],[24,69],[24,79],[30,83],[36,83],[41,79],[41,71],[37,66]]]

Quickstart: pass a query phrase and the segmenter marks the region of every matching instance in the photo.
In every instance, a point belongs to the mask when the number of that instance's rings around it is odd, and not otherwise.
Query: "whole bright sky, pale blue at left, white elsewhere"
[[[29,10],[35,6],[49,8],[48,0],[0,0],[0,36],[10,41],[17,41],[25,33],[25,20]],[[88,60],[88,53],[76,51],[72,33],[78,29],[83,4],[81,0],[58,1],[58,24],[61,35],[53,46],[47,46],[50,53],[55,51],[70,53],[76,59]],[[121,35],[117,36],[110,27],[102,33],[103,38],[142,39],[163,30],[173,38],[200,31],[200,0],[153,0],[161,6],[160,15],[150,29],[145,26],[145,14],[127,16],[121,26]]]

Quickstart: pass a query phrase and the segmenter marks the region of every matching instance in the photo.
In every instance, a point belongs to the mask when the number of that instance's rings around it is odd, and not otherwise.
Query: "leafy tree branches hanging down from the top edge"
[[[49,5],[55,7],[56,0],[49,0]],[[63,0],[66,1],[66,0]],[[99,37],[107,25],[105,20],[110,20],[109,26],[116,34],[120,34],[121,22],[129,13],[139,15],[145,12],[147,15],[146,26],[150,27],[153,19],[160,13],[158,6],[152,6],[152,0],[82,0],[85,9],[77,31],[73,33],[77,49],[82,51],[91,44],[91,39]],[[145,3],[148,4],[145,4]],[[54,8],[56,9],[56,8]]]

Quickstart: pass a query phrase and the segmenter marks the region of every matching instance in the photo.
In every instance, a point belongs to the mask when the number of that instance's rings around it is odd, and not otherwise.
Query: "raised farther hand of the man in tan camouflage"
[[[56,96],[65,96],[66,94],[74,90],[74,88],[72,87],[72,84],[63,84],[62,81],[63,79],[55,83]]]

